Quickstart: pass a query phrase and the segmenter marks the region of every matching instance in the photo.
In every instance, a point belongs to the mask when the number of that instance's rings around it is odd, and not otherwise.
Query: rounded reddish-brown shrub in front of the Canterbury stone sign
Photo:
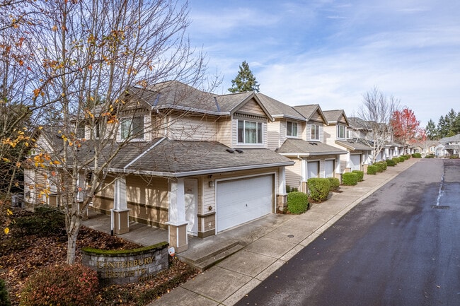
[[[47,266],[28,278],[19,305],[92,306],[98,286],[96,271],[86,266]]]

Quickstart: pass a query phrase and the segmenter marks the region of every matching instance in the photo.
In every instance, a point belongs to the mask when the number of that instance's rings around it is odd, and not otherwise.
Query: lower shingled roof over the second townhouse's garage
[[[282,146],[278,148],[277,153],[282,155],[300,155],[300,156],[314,156],[314,155],[335,155],[346,154],[347,151],[340,150],[329,146],[320,141],[304,141],[302,139],[286,139]]]

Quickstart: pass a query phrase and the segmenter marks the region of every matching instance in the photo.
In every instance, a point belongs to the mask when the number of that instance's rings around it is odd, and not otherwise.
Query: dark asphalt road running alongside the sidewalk
[[[420,160],[236,305],[460,305],[459,226],[460,160]]]

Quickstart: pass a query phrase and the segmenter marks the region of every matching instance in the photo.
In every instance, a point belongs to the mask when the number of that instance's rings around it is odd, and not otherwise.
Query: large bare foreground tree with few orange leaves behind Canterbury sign
[[[39,194],[54,192],[61,201],[67,262],[73,263],[88,205],[105,181],[115,180],[108,176],[114,158],[147,126],[163,124],[142,122],[139,129],[134,119],[146,111],[141,102],[149,90],[133,88],[165,80],[196,85],[205,63],[185,37],[188,4],[182,1],[52,0],[36,6],[31,69],[40,78],[33,98],[46,101],[57,120],[42,130],[45,141],[30,165],[45,169]]]

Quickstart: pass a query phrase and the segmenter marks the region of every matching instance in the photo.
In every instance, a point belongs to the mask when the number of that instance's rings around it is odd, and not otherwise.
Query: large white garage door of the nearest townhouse
[[[217,232],[272,213],[272,175],[217,182]]]

